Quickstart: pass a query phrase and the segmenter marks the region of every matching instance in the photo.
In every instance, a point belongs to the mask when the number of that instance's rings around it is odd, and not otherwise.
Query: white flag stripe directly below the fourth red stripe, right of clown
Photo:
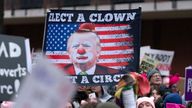
[[[113,58],[113,59],[99,59],[98,63],[120,63],[120,62],[130,62],[132,58]]]

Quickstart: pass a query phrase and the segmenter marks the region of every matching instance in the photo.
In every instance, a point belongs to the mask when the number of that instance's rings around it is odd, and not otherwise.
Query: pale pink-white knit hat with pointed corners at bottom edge
[[[142,102],[149,102],[155,108],[154,97],[140,97],[137,99],[137,108]]]

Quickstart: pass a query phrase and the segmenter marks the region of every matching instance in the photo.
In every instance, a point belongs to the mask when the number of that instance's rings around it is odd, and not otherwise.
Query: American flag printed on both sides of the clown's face
[[[49,23],[45,38],[45,54],[52,63],[60,66],[70,64],[66,51],[67,40],[79,27],[78,23]],[[98,64],[123,69],[134,59],[133,36],[129,24],[95,24],[101,42]]]

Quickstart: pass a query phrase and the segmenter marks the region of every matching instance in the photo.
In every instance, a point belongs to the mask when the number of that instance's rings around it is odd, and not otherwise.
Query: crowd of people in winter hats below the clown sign
[[[130,72],[115,86],[78,86],[67,108],[191,108],[177,87],[179,80],[178,74],[162,76],[158,69]]]

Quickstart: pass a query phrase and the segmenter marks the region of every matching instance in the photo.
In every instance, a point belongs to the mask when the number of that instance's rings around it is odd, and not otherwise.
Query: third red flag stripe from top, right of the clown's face
[[[102,51],[110,51],[110,50],[126,50],[126,49],[132,49],[133,47],[129,46],[115,46],[115,47],[102,47]]]

